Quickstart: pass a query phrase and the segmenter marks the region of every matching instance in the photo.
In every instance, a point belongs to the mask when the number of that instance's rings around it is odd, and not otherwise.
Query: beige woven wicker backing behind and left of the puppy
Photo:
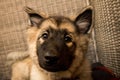
[[[0,0],[0,80],[10,78],[6,55],[27,50],[25,31],[28,25],[24,6],[48,15],[73,15],[88,4],[87,0]]]

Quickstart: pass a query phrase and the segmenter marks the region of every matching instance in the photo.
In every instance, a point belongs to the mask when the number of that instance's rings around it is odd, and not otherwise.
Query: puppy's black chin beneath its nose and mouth
[[[55,65],[40,64],[40,67],[48,72],[65,71],[69,68],[69,67],[65,67],[64,65],[61,66],[61,65],[57,65],[57,64],[55,64]]]

